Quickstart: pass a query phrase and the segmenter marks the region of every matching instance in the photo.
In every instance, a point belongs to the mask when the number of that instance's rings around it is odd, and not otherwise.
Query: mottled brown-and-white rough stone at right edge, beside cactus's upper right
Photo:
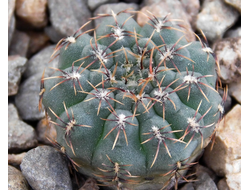
[[[224,83],[241,78],[241,37],[224,38],[216,42],[214,53],[220,64],[220,79]]]

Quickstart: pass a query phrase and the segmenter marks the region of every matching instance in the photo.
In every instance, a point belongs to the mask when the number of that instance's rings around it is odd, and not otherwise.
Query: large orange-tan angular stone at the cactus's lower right
[[[241,171],[241,106],[235,105],[217,127],[214,147],[206,148],[203,160],[218,176],[237,174]]]

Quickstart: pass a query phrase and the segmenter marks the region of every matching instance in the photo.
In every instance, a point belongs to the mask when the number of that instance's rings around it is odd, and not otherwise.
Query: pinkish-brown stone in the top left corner
[[[16,0],[16,15],[35,28],[47,25],[47,0]]]

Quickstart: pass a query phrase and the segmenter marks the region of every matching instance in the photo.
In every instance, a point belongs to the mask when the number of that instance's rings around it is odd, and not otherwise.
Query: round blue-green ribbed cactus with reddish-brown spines
[[[178,20],[148,12],[141,27],[131,12],[100,14],[97,28],[58,42],[39,107],[80,173],[114,189],[176,189],[223,114],[218,65]]]

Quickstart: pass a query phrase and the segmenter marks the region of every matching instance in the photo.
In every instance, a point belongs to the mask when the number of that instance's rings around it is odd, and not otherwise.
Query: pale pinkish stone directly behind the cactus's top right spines
[[[166,16],[168,13],[171,13],[168,18],[170,19],[181,19],[184,22],[177,22],[176,24],[184,25],[186,28],[186,39],[188,41],[196,40],[195,35],[193,34],[192,27],[188,20],[188,14],[185,12],[182,4],[180,1],[172,1],[172,0],[165,0],[156,2],[150,5],[146,5],[140,9],[140,11],[147,13],[146,10],[153,13],[156,17]],[[137,22],[140,26],[143,26],[148,22],[148,19],[145,17],[144,14],[138,14]]]

